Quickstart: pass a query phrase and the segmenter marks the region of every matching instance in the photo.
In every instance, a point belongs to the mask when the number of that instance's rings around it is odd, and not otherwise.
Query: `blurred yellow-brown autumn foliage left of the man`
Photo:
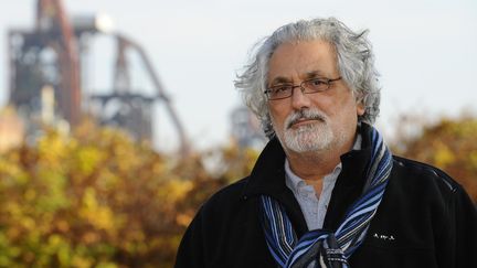
[[[0,156],[0,267],[171,267],[200,204],[256,158],[165,156],[91,121],[44,131]]]

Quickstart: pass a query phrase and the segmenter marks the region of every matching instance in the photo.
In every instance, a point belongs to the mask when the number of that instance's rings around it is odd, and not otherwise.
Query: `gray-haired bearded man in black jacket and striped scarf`
[[[392,156],[365,31],[336,19],[276,30],[239,76],[269,142],[214,194],[176,267],[477,267],[477,213],[436,168]]]

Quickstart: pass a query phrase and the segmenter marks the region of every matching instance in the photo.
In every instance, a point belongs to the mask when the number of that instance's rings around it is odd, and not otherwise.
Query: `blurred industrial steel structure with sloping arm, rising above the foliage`
[[[57,119],[75,127],[84,114],[102,124],[128,130],[136,139],[152,139],[152,108],[165,105],[179,137],[180,151],[189,144],[170,98],[158,78],[145,50],[120,33],[105,31],[100,17],[70,20],[61,0],[38,0],[35,26],[12,29],[8,35],[10,105],[29,121],[26,132],[34,132],[36,121]],[[103,23],[102,23],[103,22]],[[82,57],[88,42],[97,34],[112,36],[117,44],[114,81],[107,94],[82,93]],[[146,95],[131,88],[128,53],[139,55],[155,94]],[[129,54],[130,54],[129,53]],[[98,109],[92,111],[89,105]],[[107,112],[106,112],[107,110]]]

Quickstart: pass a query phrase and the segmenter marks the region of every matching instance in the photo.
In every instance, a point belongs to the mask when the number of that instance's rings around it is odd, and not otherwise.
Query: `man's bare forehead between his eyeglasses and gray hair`
[[[283,43],[275,50],[268,62],[267,82],[335,77],[337,74],[336,53],[329,42],[301,41]]]

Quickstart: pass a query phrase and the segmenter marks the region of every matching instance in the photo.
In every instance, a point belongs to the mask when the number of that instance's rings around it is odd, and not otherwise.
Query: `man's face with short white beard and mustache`
[[[284,43],[269,61],[267,86],[338,77],[336,52],[328,42]],[[298,153],[351,149],[358,115],[364,112],[342,79],[320,93],[303,94],[295,88],[289,98],[268,100],[268,108],[282,144]]]

